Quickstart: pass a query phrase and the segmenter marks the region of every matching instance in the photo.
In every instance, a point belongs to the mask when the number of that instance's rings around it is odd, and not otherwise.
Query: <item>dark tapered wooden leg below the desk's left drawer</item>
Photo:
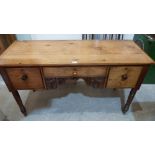
[[[12,91],[12,95],[14,96],[14,98],[20,108],[20,111],[24,114],[24,116],[27,116],[26,108],[24,107],[24,105],[22,103],[22,100],[20,98],[18,91],[17,90]]]

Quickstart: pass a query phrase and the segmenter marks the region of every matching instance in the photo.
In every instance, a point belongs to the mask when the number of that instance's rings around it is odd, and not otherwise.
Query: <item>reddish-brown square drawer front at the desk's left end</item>
[[[43,88],[39,68],[7,68],[6,71],[16,89]]]

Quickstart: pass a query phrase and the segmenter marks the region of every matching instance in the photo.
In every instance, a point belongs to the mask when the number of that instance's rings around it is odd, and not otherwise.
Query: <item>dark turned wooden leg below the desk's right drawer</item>
[[[126,112],[129,110],[130,104],[131,104],[131,102],[132,102],[132,100],[133,100],[133,98],[134,98],[136,92],[137,92],[137,89],[135,89],[135,88],[132,88],[132,89],[131,89],[130,94],[129,94],[128,99],[127,99],[127,102],[126,102],[126,104],[122,107],[122,112],[123,112],[123,113],[126,113]]]

